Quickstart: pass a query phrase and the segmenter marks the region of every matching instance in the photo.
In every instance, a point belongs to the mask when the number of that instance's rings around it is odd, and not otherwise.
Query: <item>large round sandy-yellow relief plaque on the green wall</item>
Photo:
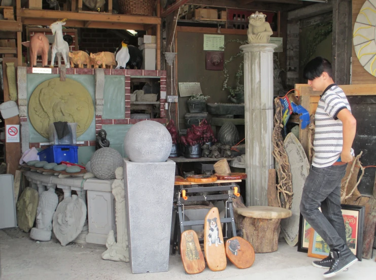
[[[77,137],[90,126],[94,117],[93,100],[79,82],[53,78],[40,83],[32,92],[28,104],[31,125],[45,138],[55,121],[77,122]]]

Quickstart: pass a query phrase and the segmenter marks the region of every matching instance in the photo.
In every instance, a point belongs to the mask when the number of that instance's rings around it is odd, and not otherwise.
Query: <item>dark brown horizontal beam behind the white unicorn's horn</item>
[[[50,19],[36,19],[27,18],[23,20],[23,24],[30,25],[50,25],[52,22]],[[85,27],[85,23],[89,23],[88,28],[101,28],[101,29],[132,29],[132,30],[144,30],[143,24],[134,23],[115,23],[115,22],[95,22],[95,21],[79,21],[68,20],[64,26],[66,27]]]

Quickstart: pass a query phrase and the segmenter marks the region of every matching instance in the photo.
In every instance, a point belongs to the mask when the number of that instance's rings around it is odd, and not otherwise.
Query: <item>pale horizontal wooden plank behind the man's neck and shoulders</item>
[[[376,84],[352,84],[339,85],[347,96],[376,96]],[[299,89],[300,96],[320,96],[321,91],[313,91],[312,87],[307,84],[295,84],[295,88]]]

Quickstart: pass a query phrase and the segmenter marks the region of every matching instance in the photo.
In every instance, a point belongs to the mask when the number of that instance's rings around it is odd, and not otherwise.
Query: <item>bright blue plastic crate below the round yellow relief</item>
[[[52,145],[41,150],[39,159],[48,163],[70,162],[78,164],[78,146]]]

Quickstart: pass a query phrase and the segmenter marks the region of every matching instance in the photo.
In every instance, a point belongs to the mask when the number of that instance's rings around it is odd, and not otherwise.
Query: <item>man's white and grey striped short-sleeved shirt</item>
[[[342,121],[337,115],[342,109],[349,109],[344,91],[336,84],[329,85],[320,96],[315,113],[314,158],[312,165],[327,167],[335,163],[342,152]],[[353,154],[353,150],[351,151]]]

